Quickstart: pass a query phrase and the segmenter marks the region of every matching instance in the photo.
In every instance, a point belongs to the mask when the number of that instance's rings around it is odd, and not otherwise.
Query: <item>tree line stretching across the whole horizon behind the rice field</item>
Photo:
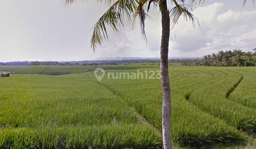
[[[253,52],[243,52],[235,49],[233,51],[218,51],[204,55],[202,59],[170,59],[169,65],[182,66],[256,66],[256,48]],[[96,61],[15,61],[0,62],[0,66],[66,66],[66,65],[121,65],[121,64],[142,64],[142,65],[160,65],[160,60],[142,59],[142,60],[96,60]]]

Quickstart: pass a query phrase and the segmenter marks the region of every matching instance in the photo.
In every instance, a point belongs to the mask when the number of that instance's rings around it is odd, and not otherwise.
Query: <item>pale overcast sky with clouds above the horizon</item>
[[[172,5],[169,4],[169,9]],[[94,53],[91,28],[107,10],[96,1],[65,6],[64,0],[1,0],[0,62],[81,61],[97,57],[160,57],[161,17],[148,13],[145,31],[125,21],[124,28]],[[170,57],[201,57],[219,50],[256,48],[256,6],[242,0],[208,0],[193,12],[200,26],[181,18],[171,31]]]

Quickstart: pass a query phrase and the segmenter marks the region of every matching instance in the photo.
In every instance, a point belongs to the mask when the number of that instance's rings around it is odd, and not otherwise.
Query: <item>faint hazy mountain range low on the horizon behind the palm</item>
[[[98,57],[94,60],[159,60],[160,57]],[[192,60],[192,59],[202,59],[202,57],[169,57],[169,60],[179,59],[179,60]]]

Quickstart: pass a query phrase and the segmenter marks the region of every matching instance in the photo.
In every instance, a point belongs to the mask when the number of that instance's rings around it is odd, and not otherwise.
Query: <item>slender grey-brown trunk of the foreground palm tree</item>
[[[170,81],[168,73],[168,50],[170,38],[170,16],[167,10],[166,0],[159,0],[159,9],[162,15],[162,38],[161,38],[161,81],[162,81],[162,137],[165,149],[171,149],[171,132],[170,132]]]

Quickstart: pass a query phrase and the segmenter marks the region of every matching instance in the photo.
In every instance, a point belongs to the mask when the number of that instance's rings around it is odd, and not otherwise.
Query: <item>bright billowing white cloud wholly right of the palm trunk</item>
[[[201,29],[193,29],[189,22],[175,28],[177,42],[172,41],[170,49],[187,52],[193,56],[218,50],[256,47],[256,10],[225,10],[224,3],[198,7],[193,14],[198,17]]]

